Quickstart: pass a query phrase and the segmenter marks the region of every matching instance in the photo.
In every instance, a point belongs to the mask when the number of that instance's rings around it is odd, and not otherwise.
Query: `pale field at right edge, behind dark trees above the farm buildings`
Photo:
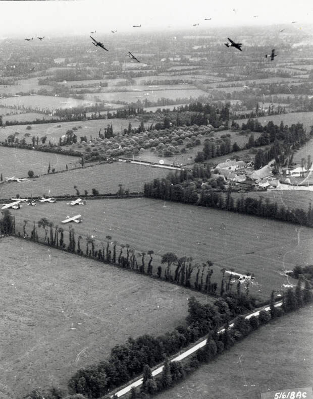
[[[280,115],[270,115],[265,117],[256,118],[258,122],[265,126],[270,121],[273,121],[275,125],[278,125],[283,121],[285,125],[291,126],[292,124],[302,123],[306,132],[309,133],[310,127],[313,125],[313,112],[290,112],[281,113]],[[243,123],[247,123],[247,119],[235,120],[241,126]]]

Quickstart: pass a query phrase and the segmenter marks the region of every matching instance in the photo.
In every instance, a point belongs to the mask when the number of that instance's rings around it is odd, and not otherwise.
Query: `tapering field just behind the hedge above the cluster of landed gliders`
[[[36,154],[38,152],[33,151],[33,153]],[[48,153],[43,154],[47,155]],[[59,154],[49,155],[59,157]],[[63,156],[64,155],[62,155],[62,157]],[[73,158],[70,158],[73,161]],[[63,161],[63,158],[55,159],[59,161],[60,168],[64,169],[66,162]],[[27,172],[28,169],[26,169],[26,176]],[[125,190],[129,189],[130,192],[142,192],[145,182],[150,182],[155,178],[162,178],[166,176],[168,172],[169,169],[142,166],[135,163],[127,164],[125,162],[114,162],[97,164],[95,166],[74,169],[55,175],[40,176],[40,178],[32,179],[29,182],[4,183],[0,185],[0,197],[10,198],[16,196],[17,193],[20,194],[21,198],[25,196],[30,197],[31,195],[34,197],[42,196],[43,194],[50,196],[65,194],[74,195],[76,193],[73,187],[74,185],[77,186],[80,195],[84,194],[84,190],[87,190],[88,193],[91,194],[93,188],[98,190],[100,194],[117,193],[119,184],[122,184]],[[44,173],[47,173],[47,166]],[[3,174],[3,176],[7,177],[5,174]],[[13,176],[13,173],[9,176]]]

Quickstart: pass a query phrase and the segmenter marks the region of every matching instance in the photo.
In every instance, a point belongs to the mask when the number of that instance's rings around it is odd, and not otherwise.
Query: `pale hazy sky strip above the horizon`
[[[192,30],[203,27],[312,23],[311,0],[54,0],[0,1],[0,38]],[[255,16],[255,17],[254,17]],[[204,18],[212,18],[204,21]],[[199,26],[192,26],[199,23]],[[294,26],[296,26],[294,24]]]

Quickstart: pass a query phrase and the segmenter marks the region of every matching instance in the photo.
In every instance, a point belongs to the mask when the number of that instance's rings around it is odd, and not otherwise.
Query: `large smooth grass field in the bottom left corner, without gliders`
[[[191,293],[182,287],[13,237],[0,251],[3,399],[66,388],[129,336],[185,323]]]

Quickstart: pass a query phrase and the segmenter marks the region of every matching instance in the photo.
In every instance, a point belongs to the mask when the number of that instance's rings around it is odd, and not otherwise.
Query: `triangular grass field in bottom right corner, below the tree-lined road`
[[[312,307],[260,327],[158,399],[259,399],[261,392],[313,384]],[[273,350],[275,348],[275,350]]]

